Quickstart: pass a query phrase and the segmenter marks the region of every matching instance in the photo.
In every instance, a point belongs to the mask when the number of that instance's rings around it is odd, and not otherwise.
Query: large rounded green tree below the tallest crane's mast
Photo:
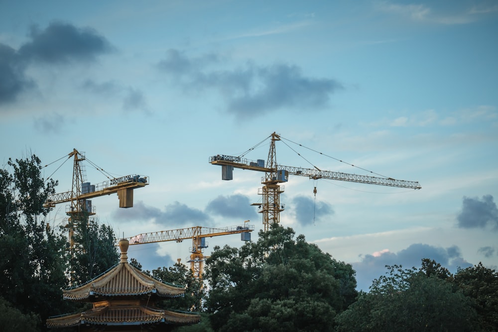
[[[357,295],[355,272],[294,235],[273,225],[257,243],[215,247],[205,273],[215,331],[333,331]]]

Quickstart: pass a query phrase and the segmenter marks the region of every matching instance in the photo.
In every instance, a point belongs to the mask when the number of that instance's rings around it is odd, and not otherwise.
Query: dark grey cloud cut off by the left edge
[[[0,43],[0,105],[14,102],[21,92],[34,86],[24,71],[25,64],[15,50]]]

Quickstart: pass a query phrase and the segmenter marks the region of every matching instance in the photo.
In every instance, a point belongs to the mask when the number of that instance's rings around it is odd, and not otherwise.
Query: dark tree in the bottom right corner
[[[472,299],[482,331],[498,331],[498,273],[480,262],[458,269],[454,284]]]

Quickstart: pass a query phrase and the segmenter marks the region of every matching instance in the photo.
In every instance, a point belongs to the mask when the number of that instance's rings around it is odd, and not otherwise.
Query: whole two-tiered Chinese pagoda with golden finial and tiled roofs
[[[200,315],[162,310],[155,303],[182,297],[183,286],[162,283],[128,264],[129,242],[120,240],[120,262],[86,284],[67,289],[64,300],[92,303],[90,310],[47,320],[47,328],[74,328],[75,331],[169,331],[178,325],[199,323]]]

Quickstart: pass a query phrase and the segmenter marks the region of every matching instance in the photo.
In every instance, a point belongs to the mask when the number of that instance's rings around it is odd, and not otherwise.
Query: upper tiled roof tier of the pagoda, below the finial
[[[81,286],[67,289],[63,298],[73,301],[87,300],[95,296],[138,296],[156,294],[159,297],[184,296],[183,286],[162,283],[127,262]]]

